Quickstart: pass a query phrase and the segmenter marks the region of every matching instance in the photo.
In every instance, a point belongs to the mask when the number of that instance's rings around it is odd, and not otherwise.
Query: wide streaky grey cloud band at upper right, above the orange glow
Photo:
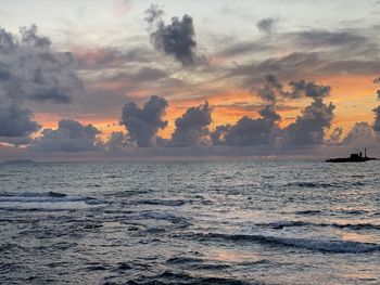
[[[242,87],[257,83],[266,74],[274,74],[282,80],[292,80],[299,77],[320,77],[329,75],[370,75],[377,74],[380,68],[378,54],[379,44],[371,37],[372,31],[363,29],[346,30],[301,30],[294,33],[279,33],[274,37],[261,38],[251,43],[232,46],[227,54],[239,55],[239,52],[251,52],[255,55],[251,63],[226,67],[226,78],[241,80]],[[291,47],[295,52],[283,56],[282,47]],[[266,52],[262,52],[263,48]],[[252,51],[251,51],[252,50]]]

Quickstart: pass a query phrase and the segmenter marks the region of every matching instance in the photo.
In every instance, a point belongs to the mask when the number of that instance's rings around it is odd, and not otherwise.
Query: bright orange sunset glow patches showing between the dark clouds
[[[335,118],[332,122],[331,130],[334,127],[343,127],[346,133],[356,121],[373,121],[371,109],[378,105],[376,98],[377,86],[372,83],[375,75],[371,76],[346,76],[335,75],[314,79],[319,83],[331,86],[331,95],[325,99],[325,102],[332,102],[335,105]],[[122,82],[109,82],[102,85],[102,88],[117,89]],[[144,96],[148,91],[142,90],[137,94],[138,98]],[[230,89],[224,93],[215,93],[207,98],[195,99],[175,99],[168,100],[169,106],[166,109],[164,119],[168,126],[159,132],[164,138],[169,138],[175,129],[175,119],[182,116],[187,108],[204,104],[205,100],[213,107],[213,124],[211,128],[218,125],[235,124],[243,116],[256,118],[258,109],[264,102],[259,101],[254,94],[246,90]],[[281,115],[280,126],[287,127],[293,122],[296,116],[301,115],[301,109],[309,104],[309,100],[300,100],[297,102],[282,102],[283,106],[278,109]],[[286,106],[289,107],[287,108]],[[100,129],[106,138],[112,131],[125,131],[123,126],[118,125],[119,115],[104,117],[98,114],[87,114],[80,116],[78,120],[83,124],[92,124]],[[36,113],[35,119],[45,128],[56,128],[61,117],[50,113]],[[331,131],[330,130],[330,131]]]

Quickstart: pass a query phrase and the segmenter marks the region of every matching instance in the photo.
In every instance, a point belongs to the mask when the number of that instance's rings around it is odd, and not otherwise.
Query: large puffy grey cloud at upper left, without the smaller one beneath
[[[37,26],[0,30],[0,87],[12,100],[68,103],[81,88],[71,53],[55,52]]]

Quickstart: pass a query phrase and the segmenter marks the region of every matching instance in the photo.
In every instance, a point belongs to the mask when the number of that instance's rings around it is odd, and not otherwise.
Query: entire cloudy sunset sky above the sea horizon
[[[380,1],[0,7],[0,160],[380,155]]]

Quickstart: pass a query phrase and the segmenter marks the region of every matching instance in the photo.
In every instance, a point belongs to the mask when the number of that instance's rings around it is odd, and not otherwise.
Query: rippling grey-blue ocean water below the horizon
[[[380,161],[1,165],[0,284],[380,284]]]

